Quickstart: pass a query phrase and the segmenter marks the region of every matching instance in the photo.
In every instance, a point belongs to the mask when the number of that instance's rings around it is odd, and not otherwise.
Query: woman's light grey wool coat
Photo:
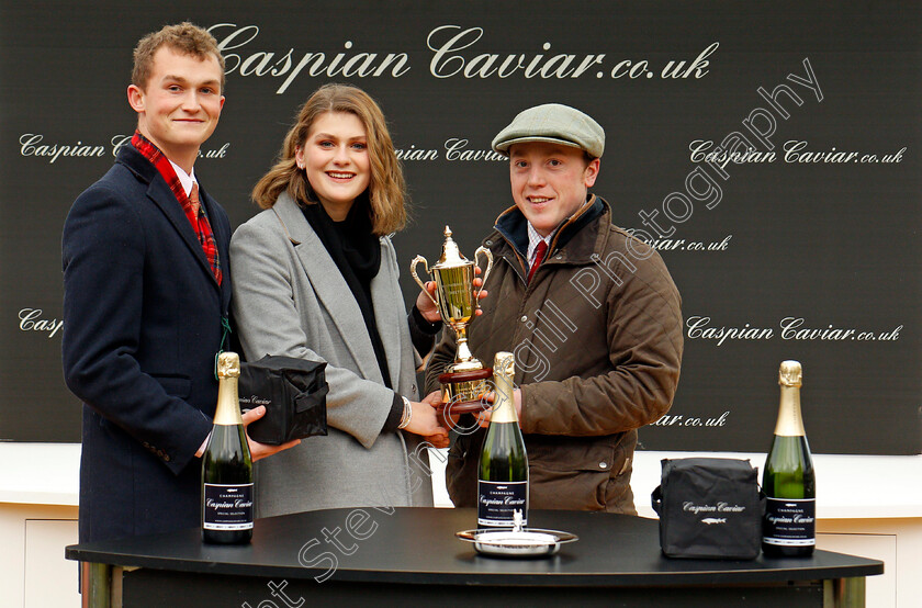
[[[326,361],[329,435],[256,463],[257,515],[360,506],[432,506],[427,450],[404,431],[382,434],[394,401],[356,299],[301,209],[282,193],[231,241],[232,309],[247,360],[284,354]],[[418,401],[416,362],[397,259],[381,238],[371,282],[391,385]]]

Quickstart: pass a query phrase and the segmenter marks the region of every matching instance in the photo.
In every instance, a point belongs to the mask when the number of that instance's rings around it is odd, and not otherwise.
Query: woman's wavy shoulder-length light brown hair
[[[314,121],[327,112],[347,112],[361,121],[368,135],[371,164],[368,199],[372,232],[383,236],[400,230],[406,225],[406,185],[384,114],[368,93],[348,85],[324,85],[299,109],[297,120],[285,135],[276,165],[252,189],[254,202],[270,209],[279,194],[286,191],[299,204],[316,203],[307,176],[297,168],[294,155],[307,140]]]

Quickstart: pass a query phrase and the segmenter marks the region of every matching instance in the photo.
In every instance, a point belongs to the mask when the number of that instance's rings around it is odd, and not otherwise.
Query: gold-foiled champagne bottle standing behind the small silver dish
[[[497,352],[493,415],[477,466],[477,527],[511,528],[515,511],[528,523],[528,457],[513,397],[515,358]]]

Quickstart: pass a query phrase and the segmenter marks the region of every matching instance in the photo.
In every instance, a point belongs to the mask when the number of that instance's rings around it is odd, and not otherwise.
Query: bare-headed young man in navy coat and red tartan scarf
[[[148,34],[134,55],[137,131],[64,226],[64,372],[83,402],[80,542],[199,525],[196,457],[227,346],[231,224],[193,170],[224,105],[224,59],[190,23]],[[250,449],[257,460],[280,448]]]

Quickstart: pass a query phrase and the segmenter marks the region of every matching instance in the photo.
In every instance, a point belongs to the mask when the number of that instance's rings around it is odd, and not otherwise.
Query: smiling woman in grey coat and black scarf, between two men
[[[258,515],[431,506],[425,447],[446,447],[448,431],[416,368],[440,323],[424,292],[404,307],[386,236],[406,221],[404,180],[378,104],[318,89],[252,199],[265,211],[231,241],[244,353],[326,361],[329,383],[329,435],[257,463]]]

